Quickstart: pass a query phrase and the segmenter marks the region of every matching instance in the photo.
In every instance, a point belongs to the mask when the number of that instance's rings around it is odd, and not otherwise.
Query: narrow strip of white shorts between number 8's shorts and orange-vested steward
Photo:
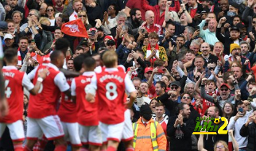
[[[133,123],[130,119],[130,110],[125,111],[125,125],[122,132],[122,141],[130,141],[134,139]]]

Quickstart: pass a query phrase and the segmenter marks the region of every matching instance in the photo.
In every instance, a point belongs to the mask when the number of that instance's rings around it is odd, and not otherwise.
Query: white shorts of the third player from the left
[[[61,122],[64,130],[64,138],[72,146],[82,146],[77,122]]]

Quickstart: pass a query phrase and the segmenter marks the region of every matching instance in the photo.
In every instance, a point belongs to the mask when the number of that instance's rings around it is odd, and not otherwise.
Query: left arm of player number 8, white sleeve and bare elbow
[[[97,78],[93,75],[91,78],[91,83],[85,87],[86,100],[89,103],[95,103],[95,95],[97,90]]]

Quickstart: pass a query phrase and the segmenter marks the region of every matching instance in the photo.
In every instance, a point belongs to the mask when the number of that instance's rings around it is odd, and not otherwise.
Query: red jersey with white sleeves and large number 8
[[[118,124],[124,121],[126,92],[135,91],[129,75],[118,68],[105,68],[91,79],[91,86],[97,90],[99,98],[99,121],[105,124]]]

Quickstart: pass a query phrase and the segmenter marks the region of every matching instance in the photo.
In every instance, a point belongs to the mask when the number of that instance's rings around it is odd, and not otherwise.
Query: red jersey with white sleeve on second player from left
[[[67,80],[62,72],[54,64],[48,64],[46,67],[41,65],[37,71],[48,68],[48,75],[41,85],[39,94],[30,95],[29,99],[29,118],[45,118],[49,115],[56,115],[56,104],[60,99],[60,91],[64,92],[69,89]],[[35,77],[37,77],[37,72]],[[36,83],[37,79],[33,79]]]

